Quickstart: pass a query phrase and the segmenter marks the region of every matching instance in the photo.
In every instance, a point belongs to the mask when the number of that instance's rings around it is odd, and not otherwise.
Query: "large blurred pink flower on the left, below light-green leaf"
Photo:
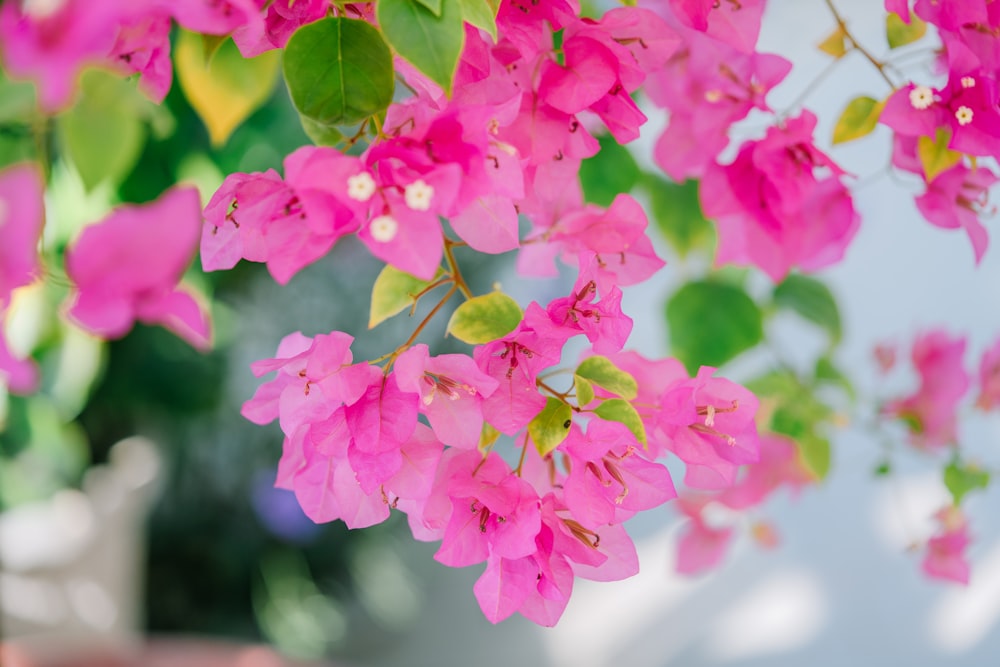
[[[69,316],[106,338],[124,336],[137,320],[160,324],[206,349],[208,313],[178,287],[198,249],[200,208],[197,190],[178,187],[84,229],[66,252]]]

